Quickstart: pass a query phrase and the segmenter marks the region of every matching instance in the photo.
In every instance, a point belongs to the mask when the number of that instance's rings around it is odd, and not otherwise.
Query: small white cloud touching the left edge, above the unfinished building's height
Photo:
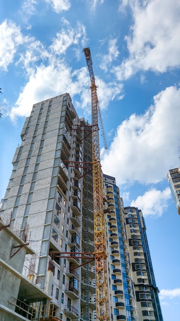
[[[0,25],[0,68],[8,70],[8,65],[13,62],[17,48],[22,43],[20,28],[13,22],[5,20]]]

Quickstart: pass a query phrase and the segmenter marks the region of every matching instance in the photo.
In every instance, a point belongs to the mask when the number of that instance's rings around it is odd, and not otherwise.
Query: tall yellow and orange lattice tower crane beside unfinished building
[[[92,106],[92,153],[93,153],[93,194],[94,194],[94,236],[95,236],[95,280],[96,280],[96,320],[109,321],[105,229],[103,213],[102,171],[100,163],[98,113],[100,113],[97,86],[93,72],[93,62],[89,48],[84,48],[86,64],[91,78]],[[102,119],[100,118],[101,123]],[[104,133],[102,132],[102,135]],[[105,138],[105,136],[103,136]],[[105,146],[106,148],[106,146]]]

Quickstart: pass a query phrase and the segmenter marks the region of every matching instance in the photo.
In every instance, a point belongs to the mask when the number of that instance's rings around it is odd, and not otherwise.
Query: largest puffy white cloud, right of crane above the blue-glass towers
[[[154,96],[145,114],[132,114],[118,126],[102,170],[117,184],[158,183],[176,166],[180,150],[180,89],[168,87]]]

